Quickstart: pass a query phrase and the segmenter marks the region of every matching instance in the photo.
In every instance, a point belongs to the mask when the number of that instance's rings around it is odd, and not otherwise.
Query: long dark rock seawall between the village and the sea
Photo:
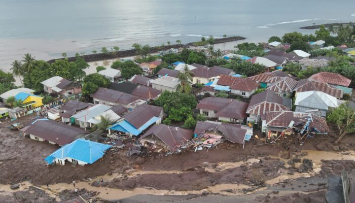
[[[222,44],[226,42],[235,42],[235,41],[240,41],[245,39],[246,38],[240,36],[219,38],[219,39],[215,39],[214,45]],[[166,51],[169,49],[189,48],[192,47],[193,43],[194,42],[188,44],[173,44],[173,45],[166,45],[164,47],[155,46],[155,47],[151,47],[150,53]],[[129,49],[129,50],[122,50],[122,51],[108,52],[108,53],[86,54],[86,55],[81,55],[80,57],[83,57],[86,62],[94,62],[94,61],[101,61],[101,60],[110,60],[115,58],[131,57],[136,55],[137,54],[135,49]],[[76,56],[66,57],[66,58],[54,58],[54,59],[47,60],[47,62],[53,63],[55,60],[60,60],[60,59],[67,59],[70,62],[70,61],[75,61],[76,58],[77,58]]]

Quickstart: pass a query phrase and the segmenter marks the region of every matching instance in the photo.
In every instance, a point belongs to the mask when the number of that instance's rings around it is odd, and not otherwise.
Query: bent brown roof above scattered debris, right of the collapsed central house
[[[195,127],[195,134],[202,134],[207,130],[218,130],[222,133],[222,137],[226,138],[232,143],[243,144],[246,130],[241,128],[242,125],[231,123],[210,123],[198,121]]]

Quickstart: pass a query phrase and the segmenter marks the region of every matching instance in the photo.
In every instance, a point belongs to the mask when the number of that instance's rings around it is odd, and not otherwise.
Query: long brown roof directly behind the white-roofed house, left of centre
[[[138,99],[137,96],[134,96],[132,94],[127,94],[124,92],[116,91],[113,89],[107,89],[103,87],[100,87],[95,93],[91,94],[90,96],[92,98],[97,98],[104,101],[109,101],[112,103],[120,103],[125,105],[128,105]]]

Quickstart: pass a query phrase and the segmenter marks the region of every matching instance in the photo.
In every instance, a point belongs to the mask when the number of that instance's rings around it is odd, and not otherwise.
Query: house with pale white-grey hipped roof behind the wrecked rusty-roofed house
[[[327,116],[328,110],[339,105],[340,101],[336,97],[321,91],[299,92],[295,99],[296,112],[313,113],[323,117]]]

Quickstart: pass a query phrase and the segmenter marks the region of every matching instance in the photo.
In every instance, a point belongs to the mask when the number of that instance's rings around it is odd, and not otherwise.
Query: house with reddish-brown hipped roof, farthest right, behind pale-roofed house
[[[313,74],[309,79],[318,81],[318,82],[325,82],[331,85],[340,85],[344,87],[348,87],[351,83],[350,79],[345,78],[344,76],[337,74],[337,73],[328,73],[328,72],[321,72]]]

